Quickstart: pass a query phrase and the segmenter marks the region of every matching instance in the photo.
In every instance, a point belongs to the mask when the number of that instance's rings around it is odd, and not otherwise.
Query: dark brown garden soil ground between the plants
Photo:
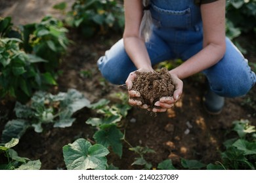
[[[18,8],[15,4],[17,2],[23,2],[24,8],[19,8],[17,11],[14,7]],[[35,1],[6,1],[6,3],[0,4],[6,8],[5,11],[1,11],[1,14],[9,12],[9,15],[16,21],[15,24],[25,20],[27,24],[30,23],[29,21],[34,22],[39,10],[45,9],[45,14],[47,14],[51,8],[44,8],[44,6],[50,6],[50,2],[40,1],[41,6],[31,8],[28,14],[26,6],[35,5]],[[27,14],[25,19],[22,16],[24,14]],[[30,20],[30,18],[33,19]],[[121,38],[121,34],[84,39],[79,33],[70,30],[68,37],[74,44],[70,45],[63,58],[60,68],[62,75],[58,78],[58,87],[55,90],[66,92],[68,88],[75,88],[92,103],[102,98],[117,103],[118,100],[112,97],[112,94],[127,93],[127,90],[104,80],[98,71],[96,60]],[[246,56],[249,61],[256,63],[255,52],[250,48],[248,48]],[[85,77],[81,71],[89,73],[89,75]],[[202,107],[202,95],[205,92],[203,76],[195,75],[183,81],[184,90],[181,100],[167,112],[155,116],[146,110],[133,107],[129,110],[127,118],[121,122],[123,124],[121,130],[124,132],[125,129],[125,139],[132,146],[148,146],[155,150],[155,154],[145,156],[153,167],[157,167],[158,163],[168,158],[172,159],[177,167],[179,167],[181,158],[198,159],[203,163],[220,161],[219,152],[224,148],[223,141],[228,138],[226,133],[232,128],[232,122],[247,119],[256,125],[255,111],[247,105],[243,105],[246,96],[226,99],[223,112],[212,116],[207,114]],[[256,97],[255,93],[256,88],[254,87],[249,95]],[[0,131],[3,130],[6,120],[12,118],[10,111],[13,106],[13,103],[1,103]],[[5,116],[6,114],[9,116]],[[95,111],[83,108],[74,115],[77,120],[72,127],[61,129],[49,126],[43,133],[28,131],[20,139],[15,150],[21,157],[32,160],[40,159],[41,169],[66,169],[62,146],[72,143],[80,137],[93,143],[92,136],[95,131],[90,125],[85,124],[85,121],[95,115]],[[129,150],[127,143],[123,144],[122,158],[112,154],[108,156],[108,163],[113,163],[119,169],[142,169],[139,166],[131,166],[138,155]]]

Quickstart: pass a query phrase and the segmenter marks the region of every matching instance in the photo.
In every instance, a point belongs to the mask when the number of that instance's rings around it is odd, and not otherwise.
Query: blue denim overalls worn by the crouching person
[[[146,48],[152,65],[176,58],[186,61],[202,50],[202,19],[194,0],[153,0],[150,12],[154,25]],[[124,84],[129,73],[137,70],[125,52],[123,39],[106,51],[97,64],[102,76],[113,84]],[[247,59],[228,38],[224,57],[202,73],[211,90],[223,97],[245,95],[256,82]]]

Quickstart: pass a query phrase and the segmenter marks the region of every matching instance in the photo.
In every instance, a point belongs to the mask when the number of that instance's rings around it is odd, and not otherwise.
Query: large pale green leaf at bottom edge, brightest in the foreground
[[[100,144],[91,145],[85,139],[77,139],[63,147],[64,162],[68,170],[104,170],[107,165],[107,148]]]

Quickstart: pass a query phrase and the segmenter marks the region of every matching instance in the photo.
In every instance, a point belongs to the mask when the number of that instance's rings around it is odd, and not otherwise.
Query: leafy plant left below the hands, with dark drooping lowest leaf
[[[121,101],[126,95],[119,93]],[[123,153],[123,133],[119,130],[118,123],[122,118],[125,118],[127,111],[131,108],[127,103],[119,103],[110,106],[110,101],[107,99],[100,99],[97,103],[93,103],[89,108],[96,110],[96,112],[102,115],[101,118],[89,118],[85,123],[93,125],[98,130],[93,138],[98,144],[102,144],[106,148],[111,147],[113,152],[120,158]]]

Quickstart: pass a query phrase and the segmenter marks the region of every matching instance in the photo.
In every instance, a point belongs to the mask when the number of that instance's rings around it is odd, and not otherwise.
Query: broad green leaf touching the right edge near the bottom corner
[[[256,154],[255,142],[248,142],[242,139],[238,139],[238,141],[234,142],[233,146],[238,148],[238,150],[242,150],[245,155]]]

